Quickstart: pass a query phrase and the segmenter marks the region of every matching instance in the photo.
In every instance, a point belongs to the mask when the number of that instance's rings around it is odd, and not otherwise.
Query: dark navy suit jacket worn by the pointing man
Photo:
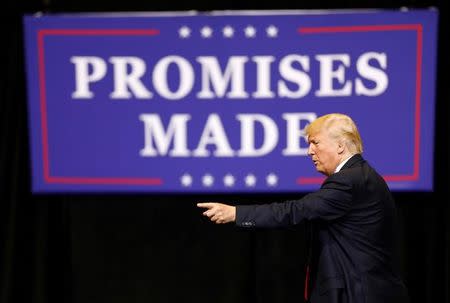
[[[242,227],[281,227],[309,221],[311,302],[408,302],[395,266],[395,205],[383,178],[357,154],[300,200],[236,208]]]

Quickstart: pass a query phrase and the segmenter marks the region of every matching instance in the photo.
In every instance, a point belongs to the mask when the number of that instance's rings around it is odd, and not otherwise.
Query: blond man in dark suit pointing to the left
[[[314,243],[312,292],[306,294],[310,302],[408,302],[394,264],[394,200],[383,178],[361,156],[355,123],[346,115],[329,114],[309,124],[306,135],[308,155],[327,176],[318,191],[283,203],[198,206],[218,224],[279,227],[306,220]]]

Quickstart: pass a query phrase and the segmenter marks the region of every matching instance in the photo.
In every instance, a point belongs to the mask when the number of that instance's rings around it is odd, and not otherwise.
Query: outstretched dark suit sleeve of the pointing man
[[[236,225],[242,227],[282,227],[303,220],[334,220],[352,205],[352,182],[343,173],[328,177],[321,188],[299,200],[236,207]]]

